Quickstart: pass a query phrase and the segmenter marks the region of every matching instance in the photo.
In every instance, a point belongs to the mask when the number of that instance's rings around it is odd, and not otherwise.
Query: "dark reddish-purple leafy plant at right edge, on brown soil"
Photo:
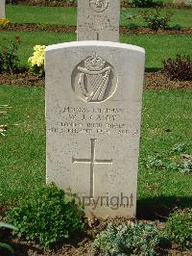
[[[192,80],[192,60],[190,56],[177,55],[176,59],[168,58],[163,61],[163,71],[171,80]]]

